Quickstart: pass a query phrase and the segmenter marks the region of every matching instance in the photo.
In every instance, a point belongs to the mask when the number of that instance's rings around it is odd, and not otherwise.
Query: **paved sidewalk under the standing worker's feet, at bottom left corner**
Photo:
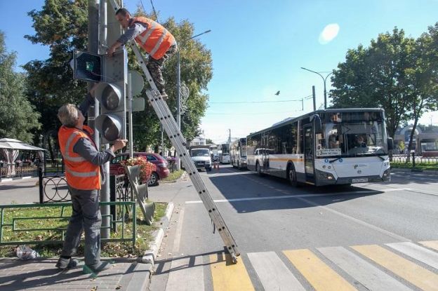
[[[56,261],[1,258],[0,290],[145,290],[152,270],[151,264],[138,264],[135,259],[111,259],[111,269],[98,276],[84,275],[81,268],[60,271]]]

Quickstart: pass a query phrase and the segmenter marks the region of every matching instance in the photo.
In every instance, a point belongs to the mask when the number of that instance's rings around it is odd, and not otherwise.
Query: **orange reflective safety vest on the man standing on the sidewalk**
[[[90,140],[95,146],[94,141],[86,132],[93,135],[93,130],[88,126],[84,126],[84,130],[61,126],[58,131],[58,140],[65,163],[65,177],[67,184],[74,189],[100,190],[100,167],[73,151],[74,144],[81,138]]]

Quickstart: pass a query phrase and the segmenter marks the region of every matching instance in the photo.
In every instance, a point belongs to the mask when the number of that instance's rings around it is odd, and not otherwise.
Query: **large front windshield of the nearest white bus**
[[[375,118],[369,112],[361,112],[362,118],[356,112],[343,112],[335,119],[323,119],[322,133],[316,139],[317,156],[387,155],[385,122],[376,117],[379,112],[372,113]]]

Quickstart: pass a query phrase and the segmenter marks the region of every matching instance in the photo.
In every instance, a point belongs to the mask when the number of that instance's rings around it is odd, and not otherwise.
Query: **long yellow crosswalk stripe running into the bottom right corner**
[[[394,252],[390,252],[379,245],[355,245],[352,246],[352,249],[422,290],[438,290],[438,276],[435,273],[394,254]]]

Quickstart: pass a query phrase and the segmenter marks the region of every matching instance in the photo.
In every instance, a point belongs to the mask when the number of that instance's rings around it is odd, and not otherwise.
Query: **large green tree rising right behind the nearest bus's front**
[[[360,45],[347,51],[346,60],[333,72],[333,107],[380,107],[385,109],[387,130],[394,136],[401,122],[411,119],[406,70],[413,67],[415,40],[394,28],[371,40],[369,48]]]

